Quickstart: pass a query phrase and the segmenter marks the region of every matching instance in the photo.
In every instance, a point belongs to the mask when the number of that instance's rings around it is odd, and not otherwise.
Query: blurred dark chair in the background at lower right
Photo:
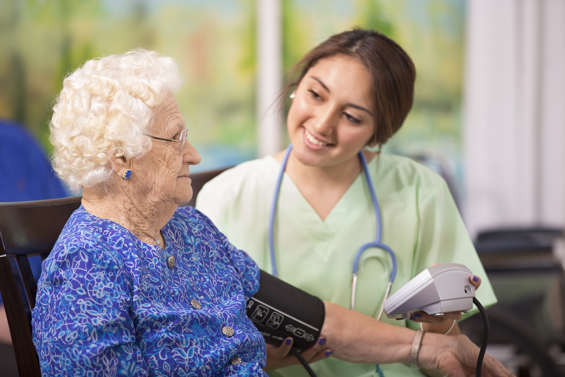
[[[565,271],[555,254],[563,229],[493,229],[479,233],[475,248],[498,297],[486,311],[491,323],[489,349],[521,376],[562,376],[565,346]],[[482,322],[460,323],[480,342]]]

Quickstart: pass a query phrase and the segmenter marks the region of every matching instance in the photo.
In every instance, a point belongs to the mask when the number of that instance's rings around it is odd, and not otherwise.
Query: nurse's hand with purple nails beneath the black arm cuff
[[[285,366],[299,364],[298,359],[290,353],[292,347],[292,337],[286,338],[278,347],[267,344],[267,365],[263,368],[264,371],[271,371]],[[321,359],[328,358],[332,354],[332,350],[324,348],[325,339],[320,337],[316,344],[310,348],[302,351],[302,357],[308,363],[320,361]]]

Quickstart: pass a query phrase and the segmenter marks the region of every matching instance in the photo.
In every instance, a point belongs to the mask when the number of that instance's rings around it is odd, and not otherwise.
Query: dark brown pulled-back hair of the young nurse
[[[290,90],[319,60],[334,55],[357,58],[369,71],[375,103],[375,133],[369,144],[385,144],[412,107],[416,68],[406,51],[384,34],[355,28],[328,38],[296,64],[298,79],[285,86],[282,99],[288,98]]]

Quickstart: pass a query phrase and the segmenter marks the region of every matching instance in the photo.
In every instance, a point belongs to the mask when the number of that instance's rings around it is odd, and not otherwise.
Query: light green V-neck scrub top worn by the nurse
[[[390,294],[433,263],[462,263],[482,279],[477,298],[496,303],[493,289],[445,181],[406,157],[381,153],[368,164],[383,221],[382,241],[396,253],[398,272]],[[209,181],[196,206],[260,268],[271,271],[268,218],[280,164],[273,157],[244,162]],[[302,196],[288,175],[281,184],[275,217],[275,254],[279,278],[350,309],[355,253],[375,241],[376,224],[364,173],[360,174],[325,220]],[[389,281],[389,255],[368,249],[359,263],[355,310],[376,318]],[[476,313],[463,314],[463,318]],[[381,321],[418,328],[410,320]],[[375,337],[379,336],[375,333]],[[423,375],[404,364],[379,365],[385,377]],[[312,364],[319,377],[378,376],[373,364],[334,358]],[[307,376],[300,365],[270,376]]]

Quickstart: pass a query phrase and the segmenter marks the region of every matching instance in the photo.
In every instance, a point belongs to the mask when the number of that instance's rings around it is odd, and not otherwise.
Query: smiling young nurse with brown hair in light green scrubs
[[[401,127],[412,106],[415,68],[395,42],[375,31],[336,34],[298,63],[287,128],[293,146],[273,223],[279,278],[334,304],[351,307],[351,270],[357,250],[375,241],[376,216],[358,157],[363,152],[379,200],[382,241],[396,253],[390,293],[433,263],[462,263],[486,276],[445,181],[412,159],[366,149],[380,147]],[[380,148],[376,148],[380,150]],[[284,151],[242,163],[208,182],[197,207],[260,268],[271,271],[268,224]],[[392,262],[368,249],[359,262],[355,311],[377,318]],[[475,285],[479,278],[473,276]],[[484,279],[477,298],[496,303]],[[463,318],[476,311],[463,314]],[[415,315],[415,317],[418,314]],[[421,314],[382,322],[428,332],[460,334],[454,319]],[[420,322],[420,323],[418,323]],[[375,334],[378,337],[379,334]],[[268,349],[268,365],[294,362],[288,347]],[[312,358],[312,361],[320,356]],[[403,364],[354,364],[325,358],[312,364],[318,376],[422,375]],[[271,376],[306,376],[293,365]]]

